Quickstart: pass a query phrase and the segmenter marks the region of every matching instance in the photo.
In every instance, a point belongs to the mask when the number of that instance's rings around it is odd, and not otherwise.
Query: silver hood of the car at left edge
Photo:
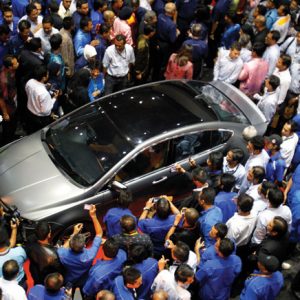
[[[0,195],[29,219],[41,219],[50,211],[51,214],[59,211],[60,205],[85,192],[57,169],[43,147],[40,134],[37,132],[0,150]]]

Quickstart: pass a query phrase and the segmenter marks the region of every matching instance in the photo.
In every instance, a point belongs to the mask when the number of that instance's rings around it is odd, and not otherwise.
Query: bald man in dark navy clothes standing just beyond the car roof
[[[163,79],[163,74],[166,69],[169,57],[174,50],[176,39],[179,35],[179,30],[176,27],[176,5],[168,2],[165,5],[165,13],[160,14],[157,20],[157,68],[153,74],[153,80]]]

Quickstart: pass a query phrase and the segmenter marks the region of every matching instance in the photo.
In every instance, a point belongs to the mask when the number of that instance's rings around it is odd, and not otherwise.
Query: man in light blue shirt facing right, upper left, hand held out
[[[84,17],[80,20],[80,29],[77,31],[74,37],[74,48],[78,58],[83,55],[83,49],[85,45],[89,44],[95,47],[99,44],[98,40],[92,41],[92,28],[92,20],[89,17]]]

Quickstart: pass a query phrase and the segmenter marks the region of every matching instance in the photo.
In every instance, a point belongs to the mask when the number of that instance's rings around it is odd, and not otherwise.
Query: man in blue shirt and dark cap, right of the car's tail
[[[285,160],[280,154],[282,138],[278,134],[272,134],[267,138],[267,148],[270,159],[266,166],[266,179],[282,186],[286,169]]]

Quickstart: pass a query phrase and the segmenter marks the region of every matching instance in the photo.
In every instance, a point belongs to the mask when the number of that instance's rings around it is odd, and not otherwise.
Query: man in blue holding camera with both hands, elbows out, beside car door
[[[153,217],[150,217],[150,213]],[[155,257],[160,257],[163,254],[165,236],[174,224],[175,215],[179,213],[179,210],[172,203],[172,197],[160,196],[150,198],[146,202],[139,219],[138,228],[150,236]]]

